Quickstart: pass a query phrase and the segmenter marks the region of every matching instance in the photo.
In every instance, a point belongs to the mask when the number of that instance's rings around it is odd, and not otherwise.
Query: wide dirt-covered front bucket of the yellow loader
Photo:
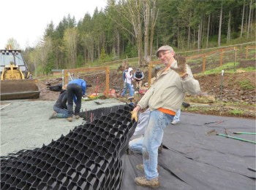
[[[40,91],[36,79],[2,80],[1,100],[39,98]]]

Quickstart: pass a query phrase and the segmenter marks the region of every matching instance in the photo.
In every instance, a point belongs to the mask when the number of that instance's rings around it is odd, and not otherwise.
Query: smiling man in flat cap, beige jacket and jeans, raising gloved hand
[[[160,47],[157,50],[157,57],[165,68],[157,73],[156,81],[132,111],[132,119],[138,121],[138,111],[146,106],[150,109],[148,126],[142,140],[143,165],[137,166],[143,168],[145,176],[135,178],[135,183],[153,188],[159,186],[157,156],[164,129],[181,108],[185,92],[200,92],[199,82],[192,76],[186,59],[182,56],[176,57],[173,47]]]

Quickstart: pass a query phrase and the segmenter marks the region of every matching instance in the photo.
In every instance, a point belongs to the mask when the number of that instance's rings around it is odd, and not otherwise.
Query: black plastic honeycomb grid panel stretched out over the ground
[[[40,149],[1,157],[1,189],[120,189],[135,130],[131,106],[75,127]]]

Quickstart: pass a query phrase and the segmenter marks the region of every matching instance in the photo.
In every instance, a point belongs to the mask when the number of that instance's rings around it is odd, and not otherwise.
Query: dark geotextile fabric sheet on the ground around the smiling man
[[[249,170],[255,170],[255,144],[206,135],[211,130],[256,141],[256,135],[233,134],[255,132],[253,119],[182,113],[179,124],[165,128],[166,149],[158,157],[159,189],[255,189],[256,173]],[[142,156],[124,154],[122,159],[121,189],[149,189],[134,182],[143,175],[135,167],[143,162]]]

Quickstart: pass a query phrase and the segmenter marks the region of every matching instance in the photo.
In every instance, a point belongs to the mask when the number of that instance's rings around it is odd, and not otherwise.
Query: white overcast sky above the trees
[[[1,1],[0,49],[4,49],[10,38],[16,39],[22,49],[34,47],[51,20],[56,27],[70,14],[78,22],[86,12],[92,15],[96,7],[104,9],[106,4],[107,0]]]

